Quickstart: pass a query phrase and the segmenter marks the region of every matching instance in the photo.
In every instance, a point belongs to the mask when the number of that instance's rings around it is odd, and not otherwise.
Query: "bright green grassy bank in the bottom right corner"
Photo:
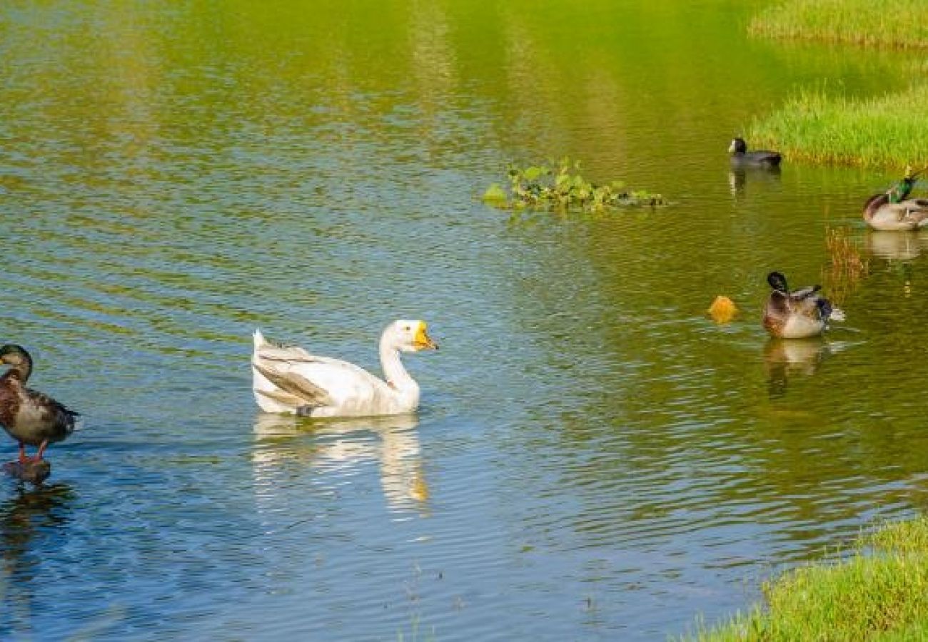
[[[861,537],[844,560],[787,572],[765,584],[764,597],[764,606],[684,639],[928,639],[928,518]]]

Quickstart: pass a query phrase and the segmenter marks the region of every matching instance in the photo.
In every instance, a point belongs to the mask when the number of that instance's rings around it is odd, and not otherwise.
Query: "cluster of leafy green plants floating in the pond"
[[[580,174],[580,162],[563,158],[546,165],[509,165],[509,190],[494,183],[483,202],[504,210],[612,212],[667,204],[660,194],[630,190],[622,181],[597,185]]]

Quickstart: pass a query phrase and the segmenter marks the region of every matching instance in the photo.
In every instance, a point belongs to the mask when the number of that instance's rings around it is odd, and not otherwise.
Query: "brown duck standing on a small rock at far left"
[[[26,388],[32,357],[22,346],[0,347],[0,363],[10,366],[0,376],[0,425],[19,442],[20,463],[41,461],[49,443],[64,441],[74,431],[74,419],[80,414]],[[27,443],[39,447],[35,456],[26,456]]]

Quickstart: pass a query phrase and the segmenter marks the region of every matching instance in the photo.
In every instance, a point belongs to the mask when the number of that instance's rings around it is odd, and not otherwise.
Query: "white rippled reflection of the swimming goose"
[[[380,462],[380,485],[393,511],[424,510],[429,488],[414,414],[386,417],[311,419],[263,413],[254,423],[251,466],[255,482],[273,498],[274,487],[293,467],[352,474],[357,466]]]

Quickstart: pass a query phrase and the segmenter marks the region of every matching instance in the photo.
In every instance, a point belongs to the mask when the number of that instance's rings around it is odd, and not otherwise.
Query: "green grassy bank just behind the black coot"
[[[778,149],[787,160],[922,167],[928,163],[925,122],[928,84],[866,100],[805,90],[755,120],[748,140],[754,148]]]

